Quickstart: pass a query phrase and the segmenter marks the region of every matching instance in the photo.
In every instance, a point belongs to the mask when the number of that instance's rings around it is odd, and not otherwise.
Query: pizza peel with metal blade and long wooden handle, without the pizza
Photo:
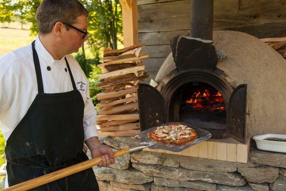
[[[164,123],[164,124],[158,125],[158,126],[170,125],[172,123],[177,123],[177,122]],[[191,127],[192,129],[194,129],[198,133],[197,139],[195,139],[194,141],[192,141],[191,143],[188,143],[186,145],[167,145],[167,144],[163,144],[163,143],[157,143],[157,142],[149,139],[149,137],[147,135],[150,131],[152,131],[158,127],[158,126],[156,126],[156,127],[152,127],[150,129],[147,129],[145,131],[138,133],[138,135],[140,137],[139,145],[137,145],[135,147],[128,148],[128,149],[121,149],[121,150],[115,151],[114,152],[114,158],[119,157],[119,156],[124,155],[124,154],[127,154],[127,153],[138,151],[138,150],[141,150],[141,149],[144,149],[147,147],[149,149],[163,149],[163,150],[168,150],[168,151],[172,151],[172,152],[180,152],[180,151],[182,151],[188,147],[191,147],[195,144],[198,144],[202,141],[205,141],[211,137],[210,132],[208,132],[204,129],[200,129],[198,127],[194,127],[194,126],[186,124],[186,123],[182,123],[182,124],[187,125],[188,127]],[[43,184],[47,184],[49,182],[53,182],[55,180],[64,178],[66,176],[75,174],[77,172],[80,172],[82,170],[86,170],[88,168],[94,167],[94,166],[99,164],[101,159],[102,159],[101,156],[96,157],[96,158],[75,164],[73,166],[69,166],[69,167],[63,168],[61,170],[57,170],[55,172],[51,172],[49,174],[45,174],[45,175],[37,177],[37,178],[33,178],[33,179],[28,180],[26,182],[16,184],[16,185],[11,186],[9,188],[6,188],[4,190],[29,190],[32,188],[36,188],[36,187],[41,186]]]

